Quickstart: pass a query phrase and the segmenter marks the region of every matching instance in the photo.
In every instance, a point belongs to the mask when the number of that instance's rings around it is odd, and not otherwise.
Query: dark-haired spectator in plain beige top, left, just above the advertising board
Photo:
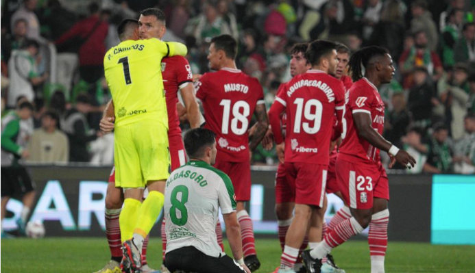
[[[59,122],[56,112],[45,112],[41,119],[41,128],[34,131],[28,143],[28,161],[43,164],[69,161],[68,138],[58,129]]]

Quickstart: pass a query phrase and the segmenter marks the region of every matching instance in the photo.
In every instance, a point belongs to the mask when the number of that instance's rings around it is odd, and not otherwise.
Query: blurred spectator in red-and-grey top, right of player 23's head
[[[404,88],[411,88],[413,86],[412,72],[417,66],[425,67],[433,81],[437,81],[443,73],[442,62],[439,56],[428,47],[426,33],[424,31],[417,31],[413,37],[413,47],[406,49],[399,60],[400,72],[403,75],[402,86]]]

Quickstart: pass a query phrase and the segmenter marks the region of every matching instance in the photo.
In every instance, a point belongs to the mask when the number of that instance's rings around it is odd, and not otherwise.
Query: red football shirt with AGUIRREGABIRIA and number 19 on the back
[[[343,110],[344,90],[341,81],[320,70],[308,70],[286,84],[269,111],[274,138],[281,143],[276,116],[286,110],[286,162],[328,165],[334,114],[341,117],[337,109]]]

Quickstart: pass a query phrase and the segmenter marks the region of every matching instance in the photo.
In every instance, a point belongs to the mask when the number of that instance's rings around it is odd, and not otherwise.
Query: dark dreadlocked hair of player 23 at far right
[[[368,62],[373,60],[375,57],[383,57],[386,54],[389,54],[389,51],[384,47],[363,47],[356,52],[354,52],[350,57],[350,62],[348,62],[348,73],[352,75],[353,81],[358,81],[358,79],[363,78],[363,70],[361,66],[367,66]]]

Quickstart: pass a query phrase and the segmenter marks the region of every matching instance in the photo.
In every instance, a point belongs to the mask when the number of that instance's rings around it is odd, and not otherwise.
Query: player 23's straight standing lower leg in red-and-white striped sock
[[[385,255],[387,249],[387,226],[389,209],[387,200],[374,198],[372,220],[369,223],[369,254],[371,255],[371,273],[385,272]]]

